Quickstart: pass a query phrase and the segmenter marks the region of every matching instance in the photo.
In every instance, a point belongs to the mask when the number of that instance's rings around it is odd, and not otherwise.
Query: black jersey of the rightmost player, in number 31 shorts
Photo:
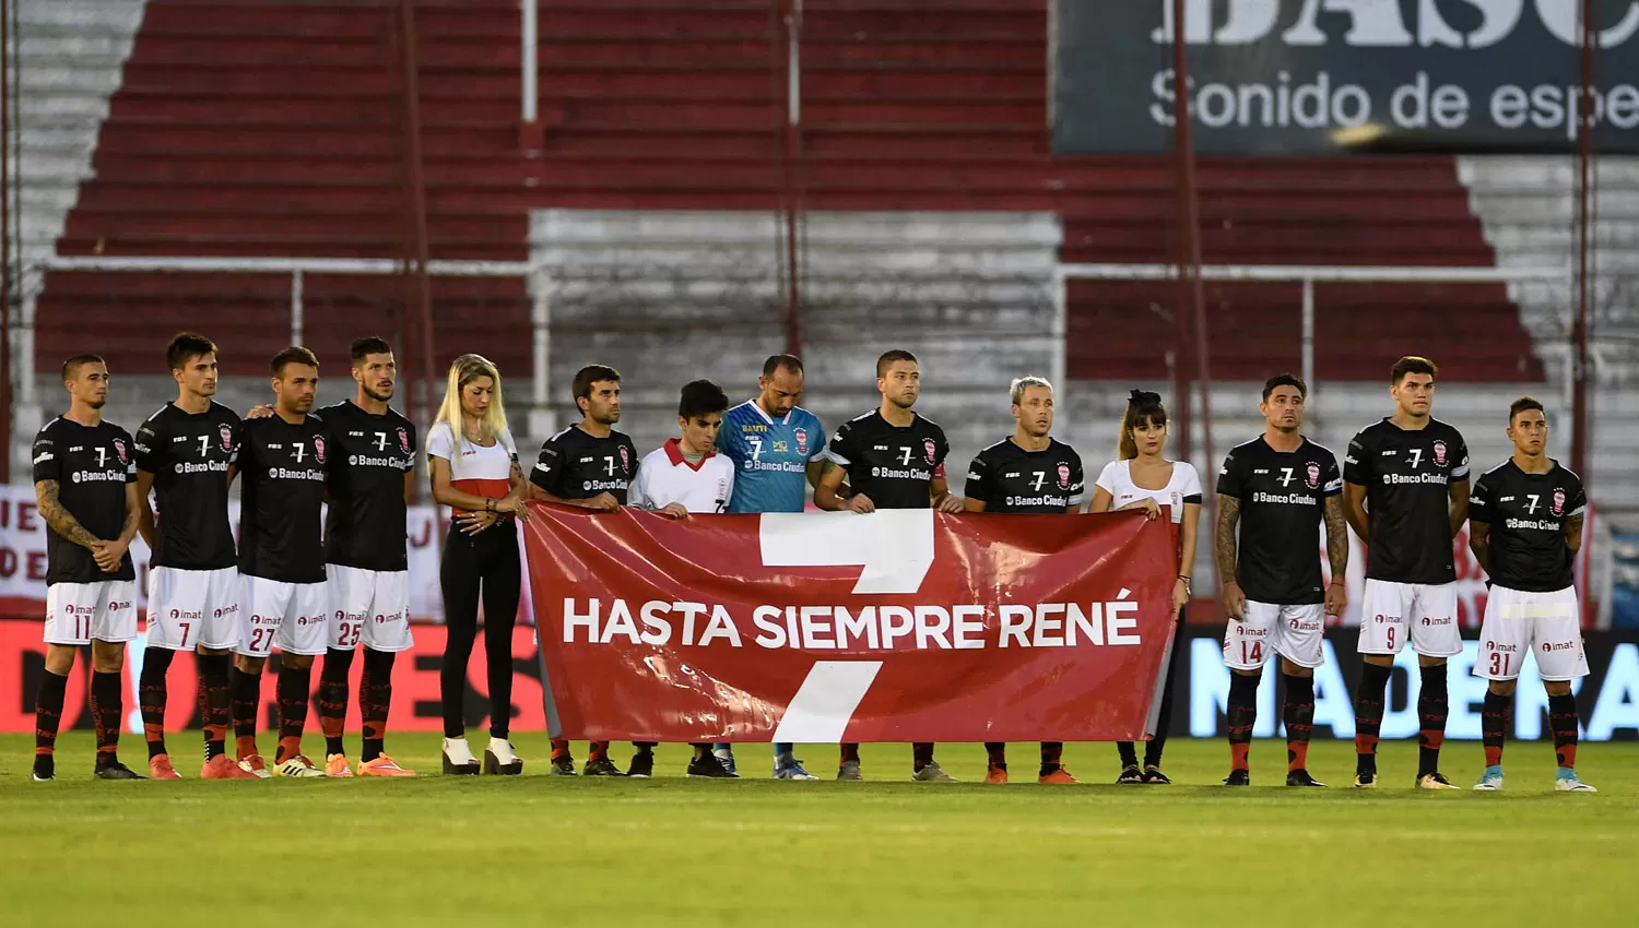
[[[1587,507],[1582,478],[1559,462],[1549,473],[1526,473],[1508,458],[1482,473],[1469,498],[1469,519],[1491,527],[1491,581],[1528,592],[1569,588],[1575,558],[1565,520]]]

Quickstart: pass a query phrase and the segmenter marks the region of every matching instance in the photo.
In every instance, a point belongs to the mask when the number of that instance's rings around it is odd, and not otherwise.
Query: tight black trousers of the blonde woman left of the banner
[[[439,691],[444,701],[444,737],[465,733],[467,660],[479,638],[479,602],[484,604],[484,653],[488,658],[490,737],[511,728],[511,632],[518,622],[518,586],[523,579],[518,534],[511,519],[477,535],[451,527],[439,566],[444,589],[444,666]]]

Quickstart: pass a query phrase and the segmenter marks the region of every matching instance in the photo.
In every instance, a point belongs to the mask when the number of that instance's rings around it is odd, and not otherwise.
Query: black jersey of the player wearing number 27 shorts
[[[329,429],[318,416],[293,426],[279,416],[244,422],[239,573],[284,583],[325,579],[321,512],[334,463]]]

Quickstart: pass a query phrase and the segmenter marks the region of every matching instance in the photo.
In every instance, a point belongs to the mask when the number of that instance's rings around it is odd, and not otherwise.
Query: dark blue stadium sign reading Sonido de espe
[[[1577,144],[1580,0],[1057,0],[1056,154],[1559,152]],[[1639,151],[1639,0],[1595,0],[1595,147]]]

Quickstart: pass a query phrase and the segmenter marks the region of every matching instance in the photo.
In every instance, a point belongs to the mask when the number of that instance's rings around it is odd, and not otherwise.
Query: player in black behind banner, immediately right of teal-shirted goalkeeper
[[[921,393],[916,355],[895,349],[877,358],[877,393],[882,404],[842,422],[831,439],[815,506],[849,512],[928,507],[960,512],[962,499],[951,493],[944,476],[944,458],[951,453],[944,429],[911,409]],[[838,494],[844,478],[852,488],[847,499]],[[918,741],[913,750],[916,781],[956,782],[934,763],[931,741]],[[836,777],[862,779],[859,745],[842,745]]]

